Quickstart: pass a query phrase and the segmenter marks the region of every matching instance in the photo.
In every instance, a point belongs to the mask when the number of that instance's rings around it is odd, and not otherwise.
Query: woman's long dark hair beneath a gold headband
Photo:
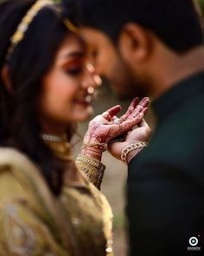
[[[10,36],[16,31],[34,0],[7,0],[0,3],[0,69],[10,46]],[[68,11],[70,12],[69,8]],[[35,16],[29,29],[10,59],[9,73],[12,93],[9,93],[0,77],[1,125],[0,145],[15,147],[27,154],[41,167],[54,194],[60,194],[64,164],[41,140],[41,126],[37,121],[37,100],[41,92],[41,78],[54,63],[57,49],[68,33],[63,23],[67,13],[60,6],[45,6]],[[68,18],[75,16],[70,14]],[[72,20],[73,23],[75,21]],[[67,128],[70,140],[73,124]],[[70,162],[72,167],[72,162]]]

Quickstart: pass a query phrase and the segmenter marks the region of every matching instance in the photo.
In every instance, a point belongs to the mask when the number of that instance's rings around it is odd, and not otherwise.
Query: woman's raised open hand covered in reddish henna
[[[102,115],[97,115],[89,123],[83,147],[87,148],[92,145],[94,148],[98,148],[97,146],[99,146],[104,151],[103,145],[108,141],[119,135],[127,134],[131,128],[142,121],[149,103],[150,100],[147,97],[143,98],[141,102],[135,98],[127,112],[120,118],[117,117],[121,110],[119,105],[108,109]]]

